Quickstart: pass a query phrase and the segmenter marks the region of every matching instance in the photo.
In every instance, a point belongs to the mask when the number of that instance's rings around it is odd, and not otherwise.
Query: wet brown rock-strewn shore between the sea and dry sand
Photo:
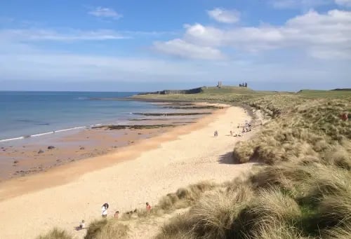
[[[170,104],[164,102],[158,105],[158,112],[163,111],[164,114],[146,111],[135,113],[136,118],[113,125],[98,124],[60,134],[41,134],[40,137],[3,142],[0,144],[0,182],[42,173],[74,161],[118,152],[140,140],[195,123],[199,118],[217,109],[213,106],[208,107],[208,104],[199,106],[191,103],[191,109],[183,108],[184,106],[173,109]]]

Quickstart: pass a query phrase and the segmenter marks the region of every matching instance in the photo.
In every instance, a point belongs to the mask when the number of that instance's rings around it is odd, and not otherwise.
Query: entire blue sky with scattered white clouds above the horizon
[[[1,1],[0,90],[351,87],[351,0]]]

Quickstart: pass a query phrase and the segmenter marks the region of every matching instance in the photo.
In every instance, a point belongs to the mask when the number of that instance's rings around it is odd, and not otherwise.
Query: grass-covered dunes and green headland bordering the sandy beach
[[[232,163],[258,162],[250,175],[220,185],[188,186],[161,198],[152,213],[138,212],[138,218],[157,217],[189,208],[160,225],[157,239],[351,238],[351,123],[340,118],[344,112],[350,118],[351,91],[277,93],[225,87],[138,98],[226,102],[270,118],[252,140],[233,145]],[[96,224],[101,226],[96,229]],[[107,235],[120,228],[127,230],[120,224],[94,223],[86,238],[102,238],[95,231]]]

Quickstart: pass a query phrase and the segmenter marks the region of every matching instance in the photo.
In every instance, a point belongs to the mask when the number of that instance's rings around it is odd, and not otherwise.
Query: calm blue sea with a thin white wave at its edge
[[[102,124],[123,124],[133,113],[160,107],[133,100],[93,100],[130,97],[138,93],[0,91],[0,142],[79,130]]]

